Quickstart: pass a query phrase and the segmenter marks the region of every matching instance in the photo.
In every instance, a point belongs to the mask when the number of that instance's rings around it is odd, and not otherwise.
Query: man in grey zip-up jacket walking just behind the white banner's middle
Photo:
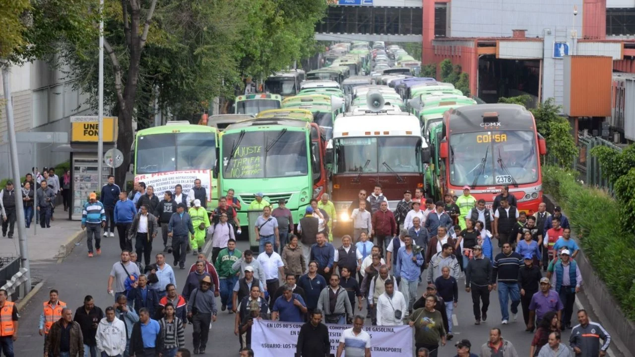
[[[346,324],[346,316],[353,316],[349,293],[340,286],[340,277],[337,274],[331,275],[329,286],[324,288],[319,294],[318,309],[324,311],[326,323]]]

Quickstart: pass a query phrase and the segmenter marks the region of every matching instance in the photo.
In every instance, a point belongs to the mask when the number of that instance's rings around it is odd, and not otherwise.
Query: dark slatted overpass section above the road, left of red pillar
[[[337,6],[328,7],[326,17],[316,25],[315,38],[337,42],[422,43],[422,33],[420,0],[339,0]]]

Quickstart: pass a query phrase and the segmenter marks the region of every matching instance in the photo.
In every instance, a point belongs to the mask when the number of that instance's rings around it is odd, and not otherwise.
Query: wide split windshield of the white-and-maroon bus
[[[420,137],[338,138],[337,173],[422,172]]]

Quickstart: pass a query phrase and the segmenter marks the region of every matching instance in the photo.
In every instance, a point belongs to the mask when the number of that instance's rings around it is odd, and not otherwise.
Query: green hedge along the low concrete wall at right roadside
[[[621,229],[620,205],[610,194],[580,184],[577,175],[543,166],[544,191],[563,206],[594,271],[635,321],[635,232]]]

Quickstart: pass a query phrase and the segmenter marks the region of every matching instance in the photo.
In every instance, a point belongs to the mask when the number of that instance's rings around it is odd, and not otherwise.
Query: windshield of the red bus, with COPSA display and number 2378
[[[481,131],[450,137],[450,183],[531,184],[538,180],[536,133]]]

